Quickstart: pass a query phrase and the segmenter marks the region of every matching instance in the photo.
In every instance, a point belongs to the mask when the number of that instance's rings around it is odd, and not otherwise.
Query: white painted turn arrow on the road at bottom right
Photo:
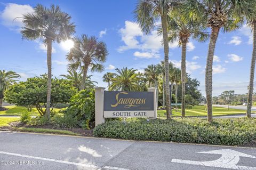
[[[220,149],[220,150],[212,150],[212,151],[198,152],[198,153],[219,154],[221,155],[221,157],[217,160],[212,160],[212,161],[193,161],[193,160],[172,159],[172,163],[201,165],[201,166],[229,168],[229,169],[256,170],[256,167],[236,165],[239,161],[239,157],[256,158],[255,156],[247,155],[242,152],[238,152],[231,149]]]

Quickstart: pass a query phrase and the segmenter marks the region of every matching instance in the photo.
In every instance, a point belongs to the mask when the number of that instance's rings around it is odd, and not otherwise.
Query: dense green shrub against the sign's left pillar
[[[94,122],[95,117],[94,89],[82,90],[75,94],[70,100],[70,107],[63,113],[65,116],[72,115],[76,118],[79,126],[89,127],[89,123]]]

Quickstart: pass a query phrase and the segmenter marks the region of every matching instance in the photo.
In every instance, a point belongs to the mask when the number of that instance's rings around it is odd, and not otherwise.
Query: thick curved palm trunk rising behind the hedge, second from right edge
[[[207,101],[207,117],[208,121],[211,123],[212,119],[212,64],[213,64],[213,55],[215,51],[215,45],[219,35],[220,28],[213,27],[211,31],[211,39],[208,49],[206,68],[205,68],[205,93]]]

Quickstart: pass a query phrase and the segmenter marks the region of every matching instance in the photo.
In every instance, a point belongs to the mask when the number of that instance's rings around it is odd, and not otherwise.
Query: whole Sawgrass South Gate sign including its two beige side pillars
[[[95,126],[104,123],[105,118],[148,117],[157,118],[156,88],[148,92],[105,91],[95,88]]]

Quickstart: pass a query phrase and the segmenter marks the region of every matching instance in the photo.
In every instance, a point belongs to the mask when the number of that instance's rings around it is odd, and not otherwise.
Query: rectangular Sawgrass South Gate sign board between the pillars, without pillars
[[[154,117],[154,92],[104,92],[104,117]]]

